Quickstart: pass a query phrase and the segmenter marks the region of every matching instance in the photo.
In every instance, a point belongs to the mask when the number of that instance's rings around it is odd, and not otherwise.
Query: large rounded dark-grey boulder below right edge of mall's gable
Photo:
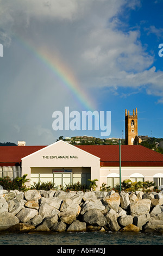
[[[87,211],[83,216],[83,221],[90,225],[104,227],[107,224],[106,218],[99,210]]]

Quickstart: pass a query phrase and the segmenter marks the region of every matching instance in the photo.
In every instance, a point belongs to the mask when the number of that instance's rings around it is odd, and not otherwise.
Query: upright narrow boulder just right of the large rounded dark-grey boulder
[[[111,209],[108,214],[105,215],[106,221],[108,223],[106,224],[106,227],[108,227],[111,231],[118,231],[121,229],[117,222],[117,216],[118,214],[113,209]]]

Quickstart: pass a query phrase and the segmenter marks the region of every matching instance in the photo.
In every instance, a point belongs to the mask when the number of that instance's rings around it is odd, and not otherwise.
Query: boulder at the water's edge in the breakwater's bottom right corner
[[[145,225],[145,233],[161,233],[163,234],[163,221],[162,220],[152,220]]]

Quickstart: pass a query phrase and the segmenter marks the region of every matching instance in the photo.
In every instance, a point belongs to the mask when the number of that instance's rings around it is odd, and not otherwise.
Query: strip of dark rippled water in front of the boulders
[[[163,245],[163,234],[130,232],[0,233],[0,245]]]

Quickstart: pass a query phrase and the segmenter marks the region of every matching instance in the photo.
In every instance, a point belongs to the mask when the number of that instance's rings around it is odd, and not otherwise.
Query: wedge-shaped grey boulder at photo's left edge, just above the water
[[[0,214],[1,231],[10,228],[12,225],[18,224],[19,222],[20,220],[13,214],[10,214],[8,211],[1,212]]]

